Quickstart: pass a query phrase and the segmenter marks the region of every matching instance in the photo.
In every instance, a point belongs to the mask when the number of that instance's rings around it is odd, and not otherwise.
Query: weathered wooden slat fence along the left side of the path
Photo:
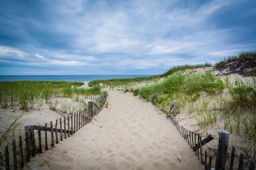
[[[44,150],[48,150],[58,144],[59,139],[62,141],[63,138],[67,139],[67,136],[73,136],[102,110],[106,99],[107,94],[101,94],[101,96],[97,96],[97,99],[95,98],[95,102],[88,102],[84,111],[76,111],[67,115],[67,117],[64,116],[63,119],[56,119],[55,125],[51,121],[50,127],[47,127],[47,123],[45,123],[45,126],[27,125],[25,127],[25,137],[19,136],[17,142],[15,139],[12,140],[0,152],[0,170],[22,169],[24,164],[29,162],[31,155],[34,157],[36,153],[43,153],[43,147]],[[41,140],[43,137],[44,141]]]

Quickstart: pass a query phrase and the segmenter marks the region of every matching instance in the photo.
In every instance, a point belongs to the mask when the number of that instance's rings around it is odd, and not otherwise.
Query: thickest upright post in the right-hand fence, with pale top
[[[229,136],[230,133],[226,130],[222,130],[220,133],[215,170],[224,170],[225,168]]]

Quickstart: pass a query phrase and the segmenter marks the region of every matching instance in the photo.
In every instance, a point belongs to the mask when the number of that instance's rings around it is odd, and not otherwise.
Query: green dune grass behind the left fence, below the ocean
[[[52,101],[53,96],[73,98],[73,94],[90,96],[102,93],[99,85],[92,88],[78,88],[83,84],[83,82],[64,81],[0,82],[0,105],[7,108],[18,104],[20,109],[29,111],[37,103],[41,106],[45,100],[49,108],[55,110],[58,102]],[[71,85],[74,85],[74,88],[71,88]]]

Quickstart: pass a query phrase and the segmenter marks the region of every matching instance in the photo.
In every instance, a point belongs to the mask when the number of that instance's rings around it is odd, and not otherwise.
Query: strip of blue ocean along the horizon
[[[154,75],[45,75],[45,76],[0,76],[0,81],[66,81],[66,82],[89,82],[95,79],[119,79],[148,77]]]

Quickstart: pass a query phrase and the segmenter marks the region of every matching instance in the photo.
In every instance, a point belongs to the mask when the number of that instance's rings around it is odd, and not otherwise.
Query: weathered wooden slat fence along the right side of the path
[[[176,102],[172,105],[171,109],[174,108]],[[198,157],[198,160],[204,164],[205,170],[233,170],[234,162],[239,162],[238,170],[254,170],[255,162],[253,160],[250,161],[250,167],[247,164],[244,164],[244,154],[240,153],[240,156],[236,155],[236,147],[232,147],[232,150],[228,147],[229,135],[230,133],[223,130],[219,133],[219,136],[214,137],[212,134],[209,136],[202,136],[199,133],[186,130],[183,126],[179,125],[179,121],[172,117],[171,109],[169,111],[169,118],[172,124],[176,127],[178,133],[186,140],[186,142],[190,145],[192,150],[195,151],[195,156]],[[176,111],[175,111],[176,113]],[[205,139],[202,139],[205,137]],[[207,150],[203,152],[203,146],[213,139],[218,140],[218,150],[216,159],[213,160],[211,155],[207,154]],[[200,151],[199,151],[200,150]],[[227,153],[228,150],[231,152],[231,157],[229,164],[227,164]],[[212,160],[215,161],[215,165],[212,166]]]

